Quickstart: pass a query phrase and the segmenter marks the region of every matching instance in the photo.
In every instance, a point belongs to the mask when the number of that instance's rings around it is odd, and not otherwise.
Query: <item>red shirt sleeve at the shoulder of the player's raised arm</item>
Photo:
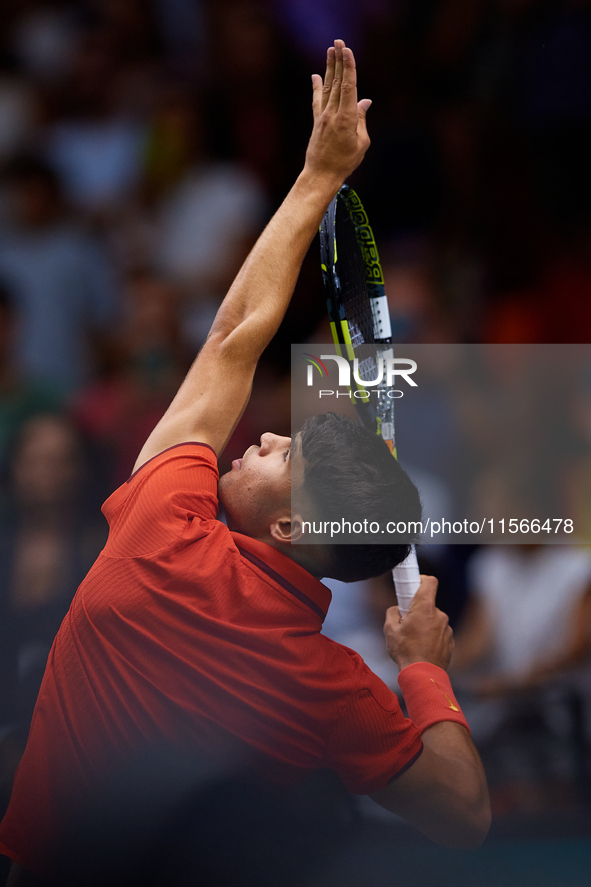
[[[183,539],[195,521],[215,520],[218,478],[207,444],[179,444],[150,459],[103,505],[110,528],[105,554],[151,554]]]

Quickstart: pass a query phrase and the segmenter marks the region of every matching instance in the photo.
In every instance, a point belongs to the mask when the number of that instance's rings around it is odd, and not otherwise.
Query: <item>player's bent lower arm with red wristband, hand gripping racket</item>
[[[435,607],[437,580],[421,580],[406,618],[401,622],[398,607],[391,607],[384,632],[424,749],[405,773],[372,798],[438,844],[476,847],[490,826],[486,778],[446,674],[453,635],[447,616]]]

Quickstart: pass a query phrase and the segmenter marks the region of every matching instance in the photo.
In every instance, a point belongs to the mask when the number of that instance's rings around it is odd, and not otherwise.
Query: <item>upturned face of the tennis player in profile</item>
[[[300,484],[300,436],[265,432],[220,478],[218,491],[231,530],[265,539],[277,521],[289,522],[292,483]]]

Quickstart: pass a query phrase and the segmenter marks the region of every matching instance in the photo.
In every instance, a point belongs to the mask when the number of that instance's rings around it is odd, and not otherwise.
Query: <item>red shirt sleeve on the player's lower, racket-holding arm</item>
[[[326,766],[353,794],[384,788],[420,755],[417,727],[398,697],[363,664],[367,686],[351,693],[326,747]]]

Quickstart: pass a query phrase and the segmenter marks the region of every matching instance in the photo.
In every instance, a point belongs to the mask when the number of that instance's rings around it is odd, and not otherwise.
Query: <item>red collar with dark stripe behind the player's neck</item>
[[[294,560],[250,536],[232,533],[240,553],[248,561],[263,570],[274,582],[299,601],[310,607],[324,622],[332,598],[330,589]]]

